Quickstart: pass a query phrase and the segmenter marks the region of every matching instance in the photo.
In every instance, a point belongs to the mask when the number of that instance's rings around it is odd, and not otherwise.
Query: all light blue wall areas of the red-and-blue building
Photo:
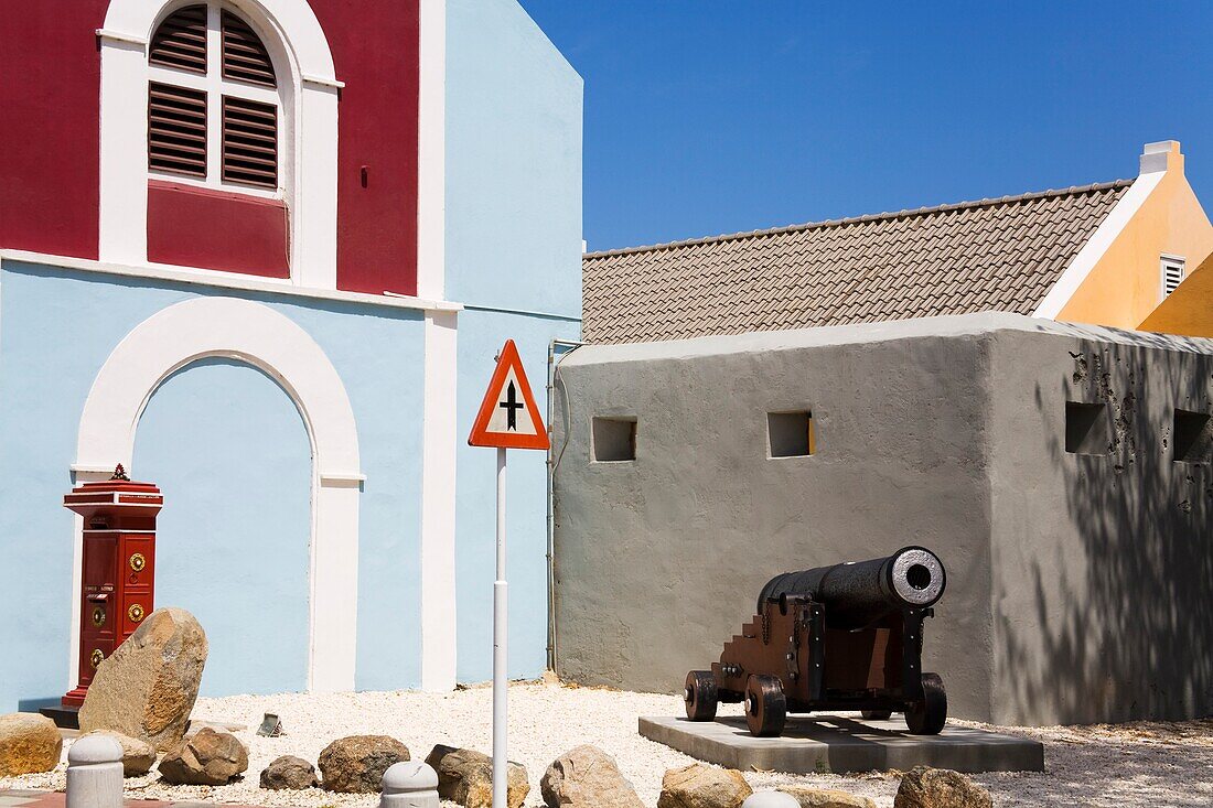
[[[553,338],[581,312],[582,81],[514,0],[449,0],[445,297],[459,312],[457,677],[491,676],[494,451],[466,437],[506,338],[546,412]],[[53,263],[53,262],[51,262]],[[348,394],[359,494],[354,687],[421,683],[425,323],[415,309],[0,264],[0,713],[56,704],[74,671],[72,488],[93,380],[132,329],[195,297],[238,297],[297,324]],[[511,676],[545,666],[545,455],[509,457]],[[132,476],[161,486],[159,605],[211,638],[205,694],[306,687],[312,455],[278,382],[234,359],[178,370],[152,394]],[[352,615],[351,615],[352,616]],[[72,677],[72,682],[69,682]]]

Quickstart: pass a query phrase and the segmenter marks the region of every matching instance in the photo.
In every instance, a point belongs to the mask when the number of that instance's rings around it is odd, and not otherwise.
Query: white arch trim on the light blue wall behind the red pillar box
[[[156,388],[200,359],[222,357],[258,368],[290,396],[312,443],[312,552],[308,687],[352,690],[357,637],[358,431],[344,385],[319,345],[296,323],[262,303],[198,297],[137,325],[93,381],[80,417],[78,479],[131,468],[135,434]],[[154,482],[154,480],[153,480]],[[167,494],[167,507],[171,507]],[[79,591],[78,519],[75,581]],[[74,597],[75,609],[79,598]],[[78,653],[79,611],[73,615]],[[76,661],[73,660],[72,671]]]

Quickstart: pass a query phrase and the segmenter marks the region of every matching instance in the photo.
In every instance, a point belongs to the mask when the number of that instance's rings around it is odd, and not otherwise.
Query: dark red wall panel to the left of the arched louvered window
[[[6,2],[0,39],[0,246],[97,257],[108,0]]]

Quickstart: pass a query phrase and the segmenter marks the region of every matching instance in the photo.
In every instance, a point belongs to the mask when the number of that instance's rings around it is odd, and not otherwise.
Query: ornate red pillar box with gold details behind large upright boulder
[[[80,683],[63,696],[64,707],[84,704],[101,660],[152,614],[155,517],[163,506],[159,488],[131,482],[121,466],[110,479],[63,497],[63,507],[84,517]]]

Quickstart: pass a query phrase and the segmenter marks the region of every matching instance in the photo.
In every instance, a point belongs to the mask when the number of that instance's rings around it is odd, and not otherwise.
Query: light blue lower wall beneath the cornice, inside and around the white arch
[[[10,618],[0,621],[0,643],[8,649],[0,711],[57,701],[67,690],[70,604],[78,593],[72,514],[62,499],[72,486],[80,415],[97,372],[144,319],[211,295],[246,297],[285,314],[341,376],[366,476],[359,586],[351,593],[358,616],[355,684],[400,688],[420,681],[421,423],[405,417],[422,405],[420,313],[5,261],[0,457],[10,473],[0,486],[0,609]],[[158,388],[137,432],[131,472],[159,484],[166,497],[158,603],[178,598],[206,618],[212,636],[206,693],[302,687],[311,457],[292,409],[260,371],[206,360]],[[237,536],[227,533],[233,525]],[[250,660],[260,673],[250,675]]]

